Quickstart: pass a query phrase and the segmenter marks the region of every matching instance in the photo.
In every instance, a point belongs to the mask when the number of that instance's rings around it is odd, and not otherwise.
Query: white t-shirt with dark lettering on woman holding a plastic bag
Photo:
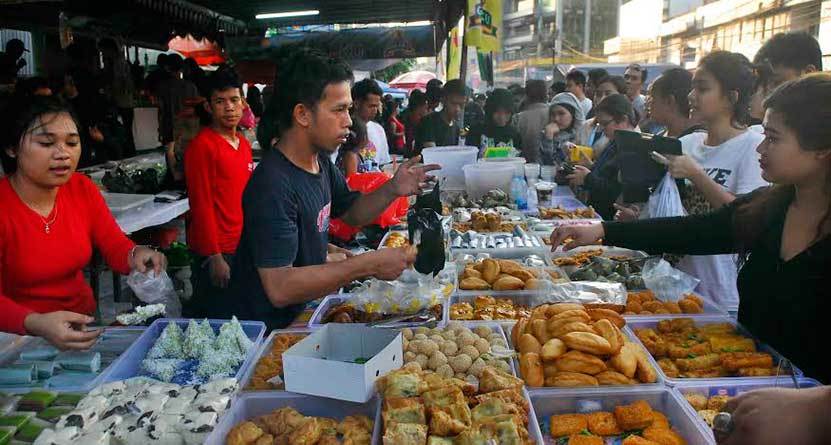
[[[681,148],[715,182],[735,195],[750,193],[767,185],[762,179],[759,154],[756,153],[756,147],[764,136],[745,131],[715,147],[705,145],[706,139],[705,132],[689,134],[681,138]],[[684,202],[688,214],[706,213],[711,209],[698,189],[690,186],[689,191],[691,196]],[[739,306],[736,259],[735,255],[687,255],[678,263],[678,268],[701,280],[696,292],[733,311]]]

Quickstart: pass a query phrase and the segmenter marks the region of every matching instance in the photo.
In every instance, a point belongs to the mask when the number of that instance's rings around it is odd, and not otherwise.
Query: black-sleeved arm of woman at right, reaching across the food
[[[715,255],[735,252],[735,205],[703,215],[561,226],[551,234],[552,249],[571,238],[566,250],[598,244],[643,250],[652,254]]]

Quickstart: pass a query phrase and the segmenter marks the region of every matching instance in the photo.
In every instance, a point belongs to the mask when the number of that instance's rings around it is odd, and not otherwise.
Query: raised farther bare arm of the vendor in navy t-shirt
[[[343,214],[343,221],[354,227],[367,225],[389,207],[396,198],[420,193],[430,179],[427,173],[441,168],[436,164],[421,165],[419,164],[420,161],[421,156],[415,156],[407,160],[398,167],[395,176],[386,184],[372,193],[361,195],[355,199]],[[334,210],[338,207],[339,203],[337,201],[339,195],[342,194],[338,189],[345,189],[346,185],[343,183],[343,177],[339,177],[338,174],[335,175],[333,181],[332,200]]]

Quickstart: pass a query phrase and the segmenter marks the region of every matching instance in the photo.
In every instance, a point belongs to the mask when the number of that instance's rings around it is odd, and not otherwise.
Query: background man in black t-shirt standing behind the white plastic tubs
[[[447,82],[442,88],[442,109],[434,111],[416,129],[413,147],[416,154],[426,147],[459,145],[459,126],[456,119],[461,116],[467,102],[465,85],[459,79]]]

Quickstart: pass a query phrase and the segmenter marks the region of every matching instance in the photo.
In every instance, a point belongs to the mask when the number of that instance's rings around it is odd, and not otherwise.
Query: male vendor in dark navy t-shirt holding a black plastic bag
[[[427,172],[440,168],[414,158],[375,192],[350,191],[330,155],[352,125],[351,70],[309,49],[292,50],[278,66],[270,110],[260,125],[275,125],[279,140],[243,193],[232,298],[215,308],[221,318],[261,320],[269,329],[285,327],[306,302],[355,279],[391,280],[409,267],[415,252],[403,248],[327,263],[329,221],[369,224],[396,198],[419,193]]]

